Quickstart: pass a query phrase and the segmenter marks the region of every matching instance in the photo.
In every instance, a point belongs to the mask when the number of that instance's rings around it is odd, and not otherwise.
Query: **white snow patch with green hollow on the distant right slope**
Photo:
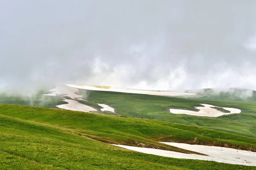
[[[241,113],[240,109],[236,108],[224,108],[227,111],[230,111],[230,113],[223,113],[221,111],[218,111],[214,108],[210,107],[217,107],[214,105],[207,105],[207,104],[201,104],[204,107],[195,107],[196,109],[199,109],[200,111],[189,111],[189,110],[182,110],[182,109],[170,109],[170,113],[175,113],[175,114],[188,114],[188,115],[193,115],[193,116],[208,116],[208,117],[218,117],[226,114],[233,114],[233,113]],[[221,107],[217,107],[221,108]]]

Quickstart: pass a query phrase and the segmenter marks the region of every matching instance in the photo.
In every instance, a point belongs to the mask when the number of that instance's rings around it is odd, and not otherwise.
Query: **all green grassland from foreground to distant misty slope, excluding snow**
[[[179,97],[79,90],[77,100],[97,113],[67,111],[66,96],[0,94],[0,169],[256,169],[242,165],[173,159],[115,147],[124,144],[195,153],[159,142],[181,142],[256,151],[256,105]],[[115,108],[101,112],[97,103]],[[12,105],[9,105],[12,104]],[[169,113],[169,108],[197,111],[210,104],[239,108],[220,117]],[[221,110],[225,112],[224,110]],[[195,153],[200,154],[200,153]]]

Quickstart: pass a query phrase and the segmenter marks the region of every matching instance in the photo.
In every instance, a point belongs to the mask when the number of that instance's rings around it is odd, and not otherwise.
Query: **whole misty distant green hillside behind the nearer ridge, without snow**
[[[0,103],[57,108],[57,105],[67,104],[63,99],[72,99],[70,96],[64,96],[63,94],[57,96],[42,96],[42,94],[46,93],[45,91],[40,92],[32,97],[0,94]],[[87,101],[78,100],[77,98],[73,100],[81,103],[81,105],[88,105],[96,109],[96,113],[162,120],[256,138],[256,105],[250,102],[218,102],[111,91],[88,91],[84,89],[79,89],[79,91],[76,91],[76,94],[81,95],[81,99]],[[114,108],[115,111],[101,111],[102,107],[99,103],[109,105]],[[201,106],[202,103],[218,107],[237,108],[240,109],[242,113],[228,114],[215,118],[191,116],[187,114],[172,114],[169,111],[170,108],[198,111],[195,107]],[[225,112],[225,109],[222,110]]]

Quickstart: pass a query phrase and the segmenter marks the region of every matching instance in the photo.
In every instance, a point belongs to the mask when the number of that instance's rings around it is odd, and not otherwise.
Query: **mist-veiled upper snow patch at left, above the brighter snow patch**
[[[72,99],[81,98],[80,95],[75,94],[75,92],[78,91],[78,89],[69,87],[67,85],[58,85],[58,86],[56,86],[56,88],[53,88],[49,91],[51,91],[52,93],[43,94],[43,95],[44,96],[56,96],[58,94],[64,94],[64,96],[70,97]]]

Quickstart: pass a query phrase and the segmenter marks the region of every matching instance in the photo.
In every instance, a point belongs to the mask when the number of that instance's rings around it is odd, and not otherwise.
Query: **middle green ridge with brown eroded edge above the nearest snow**
[[[66,111],[60,109],[0,105],[1,114],[39,123],[47,123],[80,136],[112,144],[175,150],[159,142],[208,144],[256,151],[256,139],[201,127],[148,119]],[[175,150],[184,152],[181,150]]]

